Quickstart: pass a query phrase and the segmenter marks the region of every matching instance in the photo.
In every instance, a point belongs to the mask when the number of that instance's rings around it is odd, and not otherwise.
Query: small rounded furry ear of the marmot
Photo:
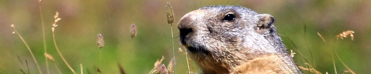
[[[275,23],[275,18],[269,14],[259,14],[259,18],[255,30],[260,34],[265,34],[272,29],[273,24]]]

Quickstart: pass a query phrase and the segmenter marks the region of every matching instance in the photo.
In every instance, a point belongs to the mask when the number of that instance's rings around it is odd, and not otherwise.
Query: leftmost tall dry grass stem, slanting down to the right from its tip
[[[22,36],[18,33],[18,31],[15,29],[14,24],[11,24],[10,27],[13,28],[13,32],[12,32],[12,34],[17,34],[18,37],[21,38],[21,40],[23,41],[23,43],[26,45],[28,51],[30,52],[30,54],[31,54],[31,56],[32,56],[32,59],[34,59],[34,61],[35,61],[35,64],[36,64],[36,66],[37,66],[37,68],[38,68],[38,70],[39,70],[39,73],[40,73],[40,74],[43,74],[43,73],[41,72],[40,66],[39,66],[39,64],[38,64],[38,62],[37,62],[37,60],[36,60],[36,58],[35,58],[35,56],[34,56],[34,53],[32,53],[32,51],[31,51],[30,46],[28,46],[27,42],[23,39],[23,37],[22,37]]]

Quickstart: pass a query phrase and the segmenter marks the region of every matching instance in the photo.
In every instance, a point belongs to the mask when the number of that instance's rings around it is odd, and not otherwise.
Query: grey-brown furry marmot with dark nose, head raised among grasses
[[[249,8],[215,5],[185,14],[178,28],[202,74],[302,74],[274,22]]]

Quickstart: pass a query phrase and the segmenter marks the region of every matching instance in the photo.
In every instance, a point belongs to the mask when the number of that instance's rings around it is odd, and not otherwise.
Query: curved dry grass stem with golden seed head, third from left
[[[72,71],[73,74],[77,74],[75,72],[75,70],[72,69],[72,67],[67,63],[66,59],[64,59],[62,53],[60,52],[59,48],[58,48],[58,45],[55,41],[55,34],[54,34],[54,29],[55,27],[57,27],[57,23],[59,20],[61,20],[61,18],[58,17],[59,16],[59,13],[58,12],[55,12],[55,15],[54,15],[54,23],[52,24],[52,27],[51,27],[51,34],[52,34],[52,37],[53,37],[53,42],[54,42],[54,46],[55,46],[55,49],[57,50],[59,56],[62,58],[63,62],[67,65],[67,67]]]

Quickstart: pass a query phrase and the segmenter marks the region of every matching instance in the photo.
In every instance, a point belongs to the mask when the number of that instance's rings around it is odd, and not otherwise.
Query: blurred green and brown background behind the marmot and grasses
[[[299,66],[306,66],[303,60],[306,58],[321,73],[334,74],[331,51],[335,50],[354,72],[371,72],[371,0],[42,0],[47,53],[54,57],[63,73],[72,74],[57,54],[51,37],[53,15],[58,11],[62,20],[56,27],[56,41],[75,71],[80,73],[79,64],[83,64],[84,73],[88,70],[96,73],[94,68],[99,66],[96,36],[101,33],[105,41],[100,68],[103,74],[119,74],[118,63],[128,74],[147,74],[161,56],[165,57],[165,65],[173,57],[166,2],[173,5],[175,12],[177,74],[187,73],[185,54],[178,52],[177,23],[187,12],[208,5],[241,5],[273,15],[287,48],[302,53],[303,56],[298,53],[294,57]],[[129,36],[133,23],[138,27],[134,39]],[[38,0],[0,0],[0,74],[21,74],[20,69],[27,72],[17,56],[22,62],[27,60],[31,74],[38,74],[26,46],[17,35],[11,34],[11,24],[28,42],[46,74]],[[354,41],[336,40],[336,35],[346,30],[355,31]],[[338,73],[347,70],[334,59]],[[191,71],[199,73],[194,62],[190,62]],[[50,62],[49,68],[53,74],[57,73]]]

